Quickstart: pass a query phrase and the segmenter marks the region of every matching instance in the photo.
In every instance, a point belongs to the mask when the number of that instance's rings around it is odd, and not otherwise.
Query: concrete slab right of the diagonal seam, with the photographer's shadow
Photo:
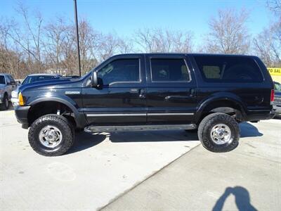
[[[280,210],[281,120],[240,125],[235,151],[197,146],[122,197],[110,210]]]

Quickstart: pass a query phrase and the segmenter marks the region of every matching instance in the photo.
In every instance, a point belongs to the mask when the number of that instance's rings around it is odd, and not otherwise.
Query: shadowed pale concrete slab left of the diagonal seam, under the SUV
[[[200,144],[184,131],[82,133],[48,158],[27,132],[0,111],[0,210],[96,210]]]

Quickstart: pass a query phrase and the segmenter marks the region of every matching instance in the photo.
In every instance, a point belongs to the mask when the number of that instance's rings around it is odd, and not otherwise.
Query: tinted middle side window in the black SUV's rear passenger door
[[[181,82],[190,79],[183,59],[152,58],[150,62],[154,82]]]

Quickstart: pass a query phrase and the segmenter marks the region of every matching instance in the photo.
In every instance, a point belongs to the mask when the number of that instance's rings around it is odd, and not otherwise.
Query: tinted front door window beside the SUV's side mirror
[[[98,77],[103,79],[105,85],[113,82],[139,82],[139,60],[138,58],[113,60],[98,71]]]

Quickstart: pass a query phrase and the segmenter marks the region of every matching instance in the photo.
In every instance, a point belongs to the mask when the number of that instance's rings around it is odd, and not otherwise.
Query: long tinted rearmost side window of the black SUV
[[[254,59],[242,56],[194,56],[208,82],[262,82],[263,75]]]

